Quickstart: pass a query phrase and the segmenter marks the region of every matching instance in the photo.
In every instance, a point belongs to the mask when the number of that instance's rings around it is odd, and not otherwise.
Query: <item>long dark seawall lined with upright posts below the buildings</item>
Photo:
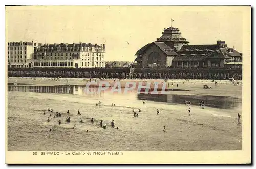
[[[143,71],[143,69],[70,69],[65,70],[8,70],[8,77],[63,77],[63,78],[105,78],[105,79],[219,79],[226,80],[229,77],[242,80],[242,73],[209,73],[202,71]]]

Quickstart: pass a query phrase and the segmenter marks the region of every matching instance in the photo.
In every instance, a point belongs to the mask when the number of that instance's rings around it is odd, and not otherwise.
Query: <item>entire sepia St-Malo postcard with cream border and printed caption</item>
[[[5,6],[5,19],[6,163],[250,163],[251,6]],[[175,161],[185,152],[201,154]]]

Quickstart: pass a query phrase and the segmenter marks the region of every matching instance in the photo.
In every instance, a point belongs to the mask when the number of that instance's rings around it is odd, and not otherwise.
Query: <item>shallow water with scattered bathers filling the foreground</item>
[[[239,99],[202,96],[206,107],[200,109],[196,103],[201,96],[148,95],[136,91],[113,94],[93,89],[94,94],[87,95],[82,86],[8,86],[8,150],[242,149],[242,125],[237,123],[237,113],[242,114]],[[146,104],[141,99],[147,100]],[[192,102],[191,116],[184,100]],[[101,106],[96,106],[99,101]],[[139,117],[133,116],[132,107],[135,111],[141,109]],[[53,118],[54,113],[48,111],[43,115],[48,108],[62,116]],[[77,115],[77,109],[82,116]],[[67,114],[67,110],[71,113]],[[68,116],[70,123],[65,121]],[[94,124],[90,122],[92,117]],[[79,123],[80,118],[84,123]],[[112,119],[118,130],[110,126]],[[100,120],[108,124],[107,129],[99,127]],[[73,129],[74,125],[77,129]]]

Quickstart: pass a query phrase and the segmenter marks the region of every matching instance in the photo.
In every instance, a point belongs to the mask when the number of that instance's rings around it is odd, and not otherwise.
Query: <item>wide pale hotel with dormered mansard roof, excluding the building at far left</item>
[[[45,44],[35,52],[33,67],[105,67],[105,44]]]

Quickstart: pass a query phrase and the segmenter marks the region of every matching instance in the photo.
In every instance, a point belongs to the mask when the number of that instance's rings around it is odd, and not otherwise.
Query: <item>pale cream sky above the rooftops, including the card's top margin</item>
[[[189,44],[226,41],[243,53],[250,7],[229,6],[13,6],[6,7],[6,40],[106,44],[106,61],[134,61],[164,28],[179,28]],[[98,38],[97,38],[98,37]],[[127,44],[127,42],[129,44]]]

